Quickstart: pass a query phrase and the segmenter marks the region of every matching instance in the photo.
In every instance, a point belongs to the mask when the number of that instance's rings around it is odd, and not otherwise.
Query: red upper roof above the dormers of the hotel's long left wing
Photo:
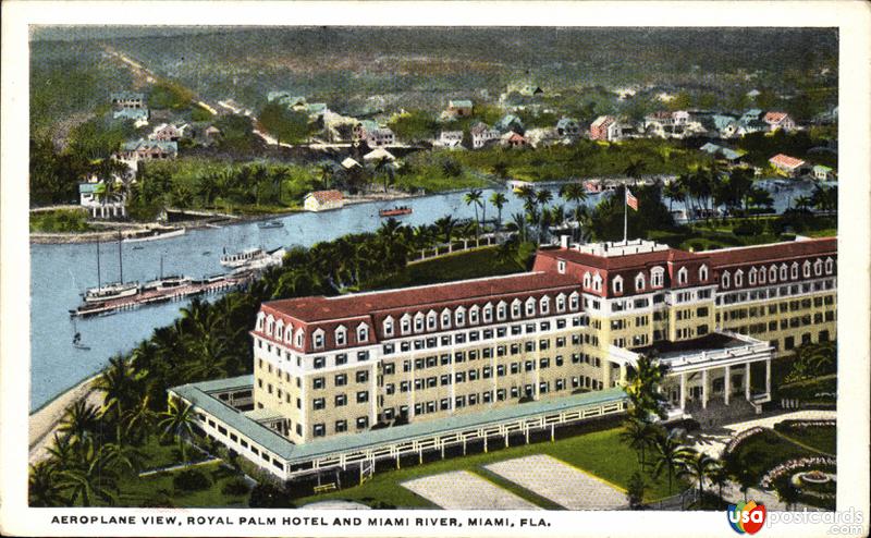
[[[284,314],[306,323],[333,319],[368,316],[378,311],[414,308],[426,310],[488,297],[531,294],[539,291],[577,288],[577,281],[568,276],[545,272],[528,272],[511,277],[465,280],[419,288],[387,290],[383,292],[340,295],[338,297],[298,297],[263,303],[265,308]]]

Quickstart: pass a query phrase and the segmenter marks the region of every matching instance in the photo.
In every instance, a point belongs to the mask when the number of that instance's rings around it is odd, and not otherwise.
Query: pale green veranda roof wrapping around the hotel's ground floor
[[[243,388],[250,389],[253,386],[254,376],[247,375],[230,379],[205,381],[201,383],[188,383],[174,387],[170,389],[170,391],[187,400],[204,412],[213,415],[255,443],[286,461],[305,461],[307,458],[324,456],[332,453],[365,450],[391,442],[407,441],[415,438],[429,437],[434,433],[444,433],[467,428],[477,428],[493,423],[523,418],[529,415],[553,413],[591,405],[598,406],[619,402],[626,398],[623,389],[615,388],[584,394],[573,394],[555,400],[528,402],[496,409],[468,413],[449,418],[424,420],[405,426],[370,430],[363,433],[335,436],[305,444],[294,444],[281,437],[278,432],[258,424],[210,394],[210,392],[216,391]]]

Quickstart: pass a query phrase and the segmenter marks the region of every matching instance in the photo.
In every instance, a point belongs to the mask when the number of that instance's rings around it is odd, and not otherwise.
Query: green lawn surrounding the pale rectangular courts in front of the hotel
[[[494,462],[531,454],[549,454],[621,488],[625,488],[633,473],[639,468],[639,465],[636,453],[619,440],[619,427],[610,428],[567,439],[557,439],[555,442],[544,441],[533,444],[524,444],[491,451],[489,453],[425,463],[424,465],[415,465],[398,470],[383,472],[376,474],[371,479],[364,482],[363,486],[355,486],[341,491],[303,498],[297,500],[296,503],[297,505],[304,505],[309,502],[328,499],[347,499],[367,504],[371,504],[375,501],[382,501],[397,508],[436,508],[426,499],[412,493],[400,486],[400,484],[439,473],[469,470],[510,489],[512,492],[519,494],[535,504],[553,509],[556,508],[553,503],[549,503],[516,485],[511,485],[511,482],[506,484],[506,481],[500,480],[498,477],[494,478],[494,475],[483,469],[483,466]],[[662,476],[660,479],[652,479],[647,474],[645,474],[645,477],[649,484],[646,494],[647,501],[653,501],[668,496],[667,477]],[[675,480],[675,491],[678,489],[677,485],[678,480]]]

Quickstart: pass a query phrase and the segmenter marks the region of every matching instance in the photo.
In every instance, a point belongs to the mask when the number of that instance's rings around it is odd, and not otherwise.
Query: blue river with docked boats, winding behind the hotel
[[[811,184],[800,184],[789,191],[772,193],[775,209],[783,211],[788,199],[809,194]],[[492,189],[483,192],[490,198]],[[554,192],[554,203],[559,200]],[[471,218],[473,207],[463,201],[465,193],[450,193],[403,199],[401,205],[414,209],[402,217],[405,223],[429,224],[451,215],[455,219]],[[523,210],[522,201],[507,193],[508,204],[502,210],[504,220]],[[594,205],[600,196],[591,196]],[[667,204],[667,199],[665,200]],[[379,209],[393,207],[395,201],[377,201],[347,206],[339,211],[322,213],[294,213],[282,217],[284,228],[260,229],[255,222],[233,224],[217,229],[191,230],[186,234],[165,240],[122,243],[124,279],[145,282],[160,271],[163,274],[200,277],[224,272],[219,258],[228,252],[260,246],[266,249],[279,246],[309,246],[317,242],[378,229],[383,219]],[[566,204],[571,207],[572,204]],[[683,204],[675,204],[675,209]],[[643,208],[641,208],[643,210]],[[495,208],[488,203],[488,219],[495,217]],[[69,310],[81,303],[85,289],[97,284],[97,244],[32,244],[30,245],[30,409],[37,409],[51,399],[99,371],[109,357],[133,349],[148,338],[155,328],[172,322],[185,303],[164,303],[137,310],[106,317],[71,320]],[[119,279],[118,243],[102,243],[100,269],[102,282]],[[76,350],[72,345],[76,329],[82,343],[90,350]]]

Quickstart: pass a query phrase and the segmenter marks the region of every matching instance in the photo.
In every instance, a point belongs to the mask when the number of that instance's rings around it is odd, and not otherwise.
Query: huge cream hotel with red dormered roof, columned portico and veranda
[[[836,259],[835,239],[700,253],[564,239],[527,273],[263,303],[253,375],[171,393],[281,479],[363,478],[622,413],[639,354],[668,366],[670,419],[759,412],[772,359],[835,338]]]

